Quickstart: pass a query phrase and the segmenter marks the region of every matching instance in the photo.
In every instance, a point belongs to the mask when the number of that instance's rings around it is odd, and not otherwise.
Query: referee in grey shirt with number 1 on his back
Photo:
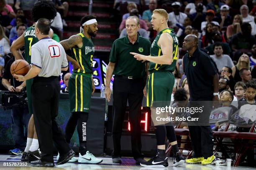
[[[31,69],[25,75],[14,75],[18,81],[33,79],[32,106],[41,159],[31,162],[32,166],[54,167],[53,142],[60,153],[57,165],[67,163],[74,151],[66,142],[55,118],[58,115],[61,70],[68,69],[64,48],[49,37],[51,23],[40,18],[35,25],[38,42],[31,47]]]

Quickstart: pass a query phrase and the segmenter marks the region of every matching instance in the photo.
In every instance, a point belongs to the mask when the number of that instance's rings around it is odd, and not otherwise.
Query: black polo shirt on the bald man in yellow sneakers
[[[183,63],[189,85],[190,100],[212,100],[212,76],[218,71],[211,57],[197,48],[191,57],[188,53],[184,55]]]

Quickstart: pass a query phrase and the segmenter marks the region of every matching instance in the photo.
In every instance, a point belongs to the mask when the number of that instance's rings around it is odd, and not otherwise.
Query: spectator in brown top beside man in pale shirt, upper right
[[[227,38],[228,41],[231,40],[231,37],[239,32],[241,32],[241,25],[243,23],[243,18],[241,15],[235,15],[233,19],[233,24],[228,25],[227,28]]]

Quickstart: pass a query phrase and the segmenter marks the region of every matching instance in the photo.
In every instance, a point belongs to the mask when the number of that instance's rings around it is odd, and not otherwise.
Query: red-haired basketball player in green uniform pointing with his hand
[[[156,114],[156,102],[166,102],[170,104],[172,88],[174,86],[173,71],[178,58],[178,40],[172,29],[167,25],[168,13],[163,9],[153,11],[151,24],[154,30],[159,32],[151,45],[150,56],[140,55],[131,52],[137,60],[150,61],[149,77],[147,80],[147,107],[151,107],[151,114]],[[165,106],[168,106],[168,105]],[[164,106],[164,107],[165,107]],[[154,117],[154,116],[153,116]],[[153,120],[154,121],[154,120]],[[143,167],[168,167],[168,159],[165,155],[165,138],[172,145],[175,157],[174,166],[184,163],[172,125],[156,125],[157,155],[146,163],[141,163]]]

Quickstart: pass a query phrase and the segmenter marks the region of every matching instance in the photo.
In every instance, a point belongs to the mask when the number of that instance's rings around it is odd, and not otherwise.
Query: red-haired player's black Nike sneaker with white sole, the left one
[[[143,167],[154,167],[154,168],[166,168],[168,167],[168,157],[165,159],[159,158],[159,155],[156,155],[155,157],[151,158],[145,163],[141,163],[141,166]]]

